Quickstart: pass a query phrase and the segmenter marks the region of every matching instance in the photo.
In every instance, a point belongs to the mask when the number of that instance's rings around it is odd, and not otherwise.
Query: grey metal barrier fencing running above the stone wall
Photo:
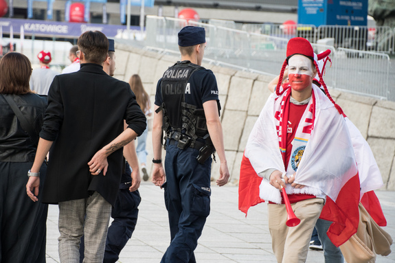
[[[286,54],[286,44],[293,36],[302,36],[301,32],[319,32],[315,36],[349,36],[346,47],[365,47],[366,42],[359,39],[368,37],[368,31],[364,29],[347,32],[345,28],[319,27],[311,25],[295,25],[295,32],[281,34],[280,27],[270,25],[260,27],[258,25],[245,25],[242,30],[216,26],[213,24],[185,21],[181,19],[169,19],[158,16],[147,16],[146,45],[155,49],[170,49],[178,51],[177,33],[184,25],[196,25],[206,30],[207,48],[205,58],[226,65],[248,70],[265,72],[271,76],[280,73]],[[230,24],[229,24],[230,25]],[[232,26],[232,25],[231,25]],[[391,32],[385,27],[378,27],[377,32]],[[302,30],[303,29],[303,30]],[[266,31],[264,31],[266,30]],[[267,33],[267,34],[262,34]],[[294,34],[290,34],[294,33]],[[307,34],[307,33],[306,33]],[[387,36],[387,35],[386,35]],[[327,65],[326,84],[335,89],[343,89],[352,93],[370,95],[372,97],[389,98],[390,57],[384,53],[369,52],[365,49],[355,50],[339,47],[339,45],[319,45],[310,36],[316,53],[326,49],[331,50],[332,67]],[[307,38],[307,35],[306,35]],[[352,40],[355,38],[355,40]],[[382,49],[387,53],[394,50],[394,41],[385,38]],[[337,47],[337,49],[336,49]],[[392,91],[394,93],[394,91]],[[394,96],[392,96],[394,97]]]

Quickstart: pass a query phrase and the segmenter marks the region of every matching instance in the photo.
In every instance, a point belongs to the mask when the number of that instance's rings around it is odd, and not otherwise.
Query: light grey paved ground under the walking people
[[[142,203],[133,237],[120,255],[119,262],[159,263],[168,247],[170,232],[163,190],[152,183],[140,187]],[[395,237],[395,192],[377,191],[387,218],[385,231]],[[47,220],[47,262],[59,262],[58,206],[49,205]],[[394,250],[394,246],[392,246]],[[197,262],[275,262],[267,226],[267,205],[249,210],[248,217],[238,211],[238,187],[212,187],[212,206],[196,249]],[[321,251],[309,251],[307,262],[324,262]],[[378,256],[376,262],[395,262],[395,253]]]

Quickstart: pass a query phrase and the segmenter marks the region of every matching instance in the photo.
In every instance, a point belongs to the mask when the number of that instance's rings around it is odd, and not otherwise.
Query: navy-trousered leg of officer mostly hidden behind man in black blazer
[[[111,217],[114,220],[107,233],[104,263],[117,262],[120,257],[121,250],[135,231],[139,214],[137,207],[140,201],[138,190],[129,192],[128,189],[122,189],[118,192],[117,201],[115,201],[113,211],[111,211]]]

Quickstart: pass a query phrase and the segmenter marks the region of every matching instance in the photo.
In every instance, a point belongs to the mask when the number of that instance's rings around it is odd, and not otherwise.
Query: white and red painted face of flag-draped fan
[[[313,83],[313,65],[306,56],[294,55],[288,60],[288,79],[291,88],[302,91]]]

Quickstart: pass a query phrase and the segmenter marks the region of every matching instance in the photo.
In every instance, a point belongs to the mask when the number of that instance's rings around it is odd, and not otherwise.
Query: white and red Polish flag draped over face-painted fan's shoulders
[[[280,191],[258,174],[267,169],[286,172],[274,117],[275,101],[281,101],[284,93],[280,96],[273,93],[269,97],[247,141],[239,182],[239,209],[246,214],[251,205],[264,201],[281,203]],[[357,232],[359,224],[357,163],[343,115],[315,85],[313,93],[313,130],[295,173],[295,183],[306,187],[297,189],[286,185],[286,192],[326,195],[320,218],[334,222],[327,233],[339,247]]]

